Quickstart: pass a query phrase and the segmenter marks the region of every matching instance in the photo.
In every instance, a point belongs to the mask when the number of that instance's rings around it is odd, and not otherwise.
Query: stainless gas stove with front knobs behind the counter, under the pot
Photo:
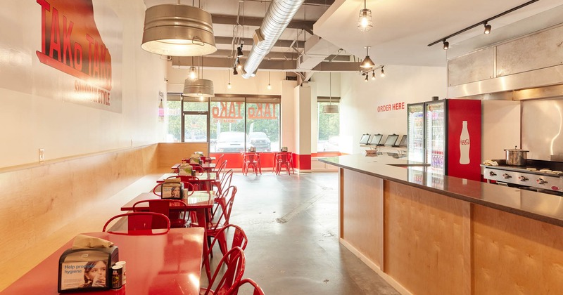
[[[498,166],[481,165],[489,181],[563,195],[563,162],[528,159],[526,166],[509,166],[504,159],[495,162]]]

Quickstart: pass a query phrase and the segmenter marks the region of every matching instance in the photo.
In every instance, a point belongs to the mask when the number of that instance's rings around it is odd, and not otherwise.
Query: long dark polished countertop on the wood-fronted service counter
[[[409,161],[407,157],[396,159],[385,154],[377,157],[345,155],[319,160],[343,169],[563,226],[563,197],[558,195],[443,176],[432,173],[429,167],[420,163]]]

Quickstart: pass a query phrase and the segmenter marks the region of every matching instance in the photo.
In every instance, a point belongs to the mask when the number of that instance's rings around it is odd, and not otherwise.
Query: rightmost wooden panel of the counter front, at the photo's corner
[[[563,230],[474,205],[474,294],[562,294]]]

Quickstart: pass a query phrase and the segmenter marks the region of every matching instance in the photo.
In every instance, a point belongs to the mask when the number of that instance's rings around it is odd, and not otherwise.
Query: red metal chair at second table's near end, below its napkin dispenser
[[[170,228],[185,228],[188,205],[179,199],[146,199],[133,204],[133,212],[143,211],[139,204],[148,204],[148,211],[164,214],[170,219]]]

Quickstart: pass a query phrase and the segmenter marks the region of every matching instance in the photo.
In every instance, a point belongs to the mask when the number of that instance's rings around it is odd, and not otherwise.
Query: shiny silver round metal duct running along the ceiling
[[[262,20],[262,25],[256,30],[254,44],[244,63],[242,77],[253,77],[262,63],[265,55],[270,52],[277,39],[284,32],[287,25],[297,13],[304,0],[272,0],[270,7]]]

